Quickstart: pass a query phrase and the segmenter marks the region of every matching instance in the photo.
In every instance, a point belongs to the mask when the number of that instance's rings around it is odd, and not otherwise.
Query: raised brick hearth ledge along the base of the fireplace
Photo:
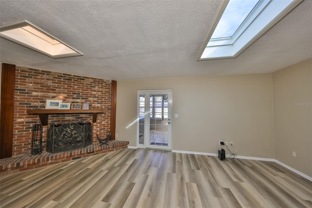
[[[128,145],[129,142],[113,140],[109,141],[109,145],[104,146],[99,146],[99,143],[96,143],[82,149],[75,149],[67,152],[51,154],[43,151],[41,155],[31,156],[30,154],[24,154],[16,157],[0,159],[0,175],[8,175],[11,173],[103,154],[109,151],[127,148]]]

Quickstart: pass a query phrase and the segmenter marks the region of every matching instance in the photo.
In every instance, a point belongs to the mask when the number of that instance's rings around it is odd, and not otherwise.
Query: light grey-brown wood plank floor
[[[312,207],[312,182],[273,162],[123,149],[0,177],[3,208]]]

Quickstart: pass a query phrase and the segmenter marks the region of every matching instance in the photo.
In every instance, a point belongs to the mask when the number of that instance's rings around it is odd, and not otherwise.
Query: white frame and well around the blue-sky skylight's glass
[[[292,0],[288,0],[292,1]],[[211,39],[212,34],[215,31],[215,28],[220,21],[222,14],[229,2],[229,0],[224,1],[221,4],[220,12],[217,14],[214,24],[211,26],[205,42],[202,45],[200,52],[197,56],[197,61],[204,60],[216,60],[216,59],[233,59],[246,50],[251,44],[253,44],[257,39],[259,39],[264,33],[266,33],[273,25],[278,21],[284,18],[292,9],[299,5],[303,0],[293,0],[286,8],[283,8],[280,13],[277,14],[273,20],[269,21],[262,29],[257,30],[257,32],[251,33],[251,37],[246,37],[246,31],[251,30],[254,27],[254,22],[260,21],[261,18],[265,17],[265,14],[274,8],[278,2],[285,1],[276,1],[276,0],[260,0],[253,11],[248,15],[248,17],[243,21],[239,28],[235,31],[234,35],[229,38],[218,38]],[[268,10],[269,8],[269,10]],[[275,9],[275,8],[274,8]],[[260,18],[259,18],[260,16]],[[266,17],[265,17],[266,18]],[[248,41],[246,41],[248,39]],[[243,40],[243,41],[242,41]],[[210,56],[202,58],[205,53]]]

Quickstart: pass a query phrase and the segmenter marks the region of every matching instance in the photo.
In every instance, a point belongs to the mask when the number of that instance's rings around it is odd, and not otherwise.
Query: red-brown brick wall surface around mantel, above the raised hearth
[[[28,115],[27,109],[44,109],[45,99],[63,95],[63,103],[90,103],[90,109],[103,109],[93,124],[93,142],[96,134],[101,138],[110,130],[111,80],[82,77],[72,74],[50,72],[26,67],[16,67],[14,96],[14,127],[12,156],[31,152],[32,126],[39,124],[38,115]],[[49,115],[49,125],[73,122],[91,122],[92,114]],[[48,125],[48,126],[49,126]],[[46,145],[46,130],[43,127],[43,146]]]

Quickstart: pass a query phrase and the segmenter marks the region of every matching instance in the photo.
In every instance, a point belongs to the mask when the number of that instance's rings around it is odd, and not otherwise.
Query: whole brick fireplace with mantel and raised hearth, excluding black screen
[[[8,65],[10,65],[10,68]],[[15,76],[11,76],[15,78],[15,81],[10,82],[15,83],[15,87],[10,88],[12,90],[12,92],[10,91],[11,101],[14,100],[14,111],[8,117],[13,119],[13,142],[8,143],[6,141],[7,144],[12,144],[12,156],[0,159],[0,176],[120,150],[127,148],[129,145],[129,142],[116,141],[114,137],[116,81],[38,70],[11,64],[5,64],[5,67],[6,71],[15,70]],[[6,89],[6,87],[1,87],[2,89]],[[57,113],[53,111],[53,113],[45,114],[48,117],[44,116],[44,119],[41,120],[44,121],[43,123],[47,122],[47,124],[43,125],[43,152],[31,155],[32,128],[35,124],[39,125],[41,123],[39,118],[42,119],[42,115],[39,117],[38,112],[42,114],[46,99],[54,99],[57,96],[65,97],[63,103],[87,102],[90,110],[75,110],[75,112],[65,110],[62,113],[57,110]],[[12,107],[12,105],[10,106]],[[5,122],[5,120],[3,121]],[[65,123],[90,123],[92,144],[63,152],[47,152],[47,128],[51,125]],[[111,139],[113,141],[109,141],[108,145],[100,146],[96,135],[105,138],[109,131],[112,132]],[[11,147],[7,147],[6,151],[10,151]]]

